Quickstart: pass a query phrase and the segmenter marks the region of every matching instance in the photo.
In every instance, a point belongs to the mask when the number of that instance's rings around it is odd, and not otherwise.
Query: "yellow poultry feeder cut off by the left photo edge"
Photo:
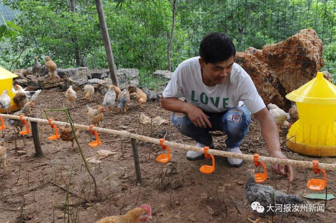
[[[4,69],[3,67],[0,67],[0,94],[2,94],[4,90],[9,91],[8,96],[12,99],[12,101],[10,102],[9,111],[16,111],[20,109],[20,107],[13,102],[13,97],[15,93],[12,92],[13,78],[17,76],[18,76],[17,74],[14,74]],[[4,111],[1,108],[0,112],[6,113],[6,111]]]

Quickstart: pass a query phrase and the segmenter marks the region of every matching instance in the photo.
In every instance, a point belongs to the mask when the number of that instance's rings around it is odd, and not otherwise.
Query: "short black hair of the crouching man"
[[[210,33],[203,38],[200,44],[200,57],[205,63],[223,62],[235,55],[235,45],[223,33]]]

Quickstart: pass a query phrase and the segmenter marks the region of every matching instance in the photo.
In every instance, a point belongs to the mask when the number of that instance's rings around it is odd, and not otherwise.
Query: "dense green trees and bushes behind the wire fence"
[[[8,68],[23,52],[13,68],[31,66],[35,55],[40,60],[50,55],[59,67],[74,67],[79,50],[82,65],[107,68],[94,1],[75,2],[73,13],[70,1],[3,0],[20,13],[0,26],[6,26],[8,39],[0,43],[0,64]],[[167,68],[172,4],[168,0],[103,2],[117,68],[138,68],[140,83],[156,87],[160,83],[151,73]],[[198,55],[201,39],[213,31],[227,33],[244,51],[311,28],[324,43],[323,69],[336,80],[335,0],[178,0],[176,4],[173,70],[182,60]],[[21,27],[25,32],[20,32]]]

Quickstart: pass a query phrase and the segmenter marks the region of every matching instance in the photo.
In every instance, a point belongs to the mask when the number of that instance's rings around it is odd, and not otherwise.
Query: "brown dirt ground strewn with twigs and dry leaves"
[[[36,116],[45,118],[44,109],[62,108],[64,94],[53,90],[42,91],[33,109]],[[77,97],[76,106],[70,109],[70,114],[75,123],[88,124],[84,93],[78,91]],[[88,104],[97,107],[102,100],[103,96],[95,93],[93,102]],[[69,106],[67,102],[66,105]],[[169,141],[195,145],[170,122],[161,126],[140,124],[140,112],[153,117],[160,115],[170,121],[170,112],[161,109],[159,103],[147,103],[142,109],[136,100],[131,100],[131,108],[126,114],[116,113],[115,110],[105,112],[104,127],[116,130],[134,128],[138,134],[156,138],[166,135]],[[49,112],[48,115],[54,120],[66,121],[65,114],[61,112]],[[287,131],[283,130],[283,153],[288,158],[311,161],[313,157],[299,155],[286,148],[284,137]],[[88,146],[90,132],[81,131],[80,143],[85,157],[98,157],[96,152],[99,149],[116,152],[102,159],[100,164],[89,164],[98,185],[99,195],[96,198],[79,149],[76,146],[76,151],[70,152],[71,143],[48,140],[47,137],[52,134],[50,126],[39,125],[43,158],[35,157],[31,134],[23,137],[24,141],[21,137],[16,140],[17,150],[27,151],[26,155],[17,157],[13,128],[4,132],[8,168],[5,173],[1,168],[0,173],[0,222],[52,222],[53,219],[55,222],[68,222],[68,212],[69,222],[74,222],[76,215],[77,222],[95,222],[102,217],[125,214],[142,204],[152,207],[153,219],[149,222],[248,222],[247,218],[257,218],[244,194],[246,170],[255,168],[252,162],[233,168],[226,164],[224,158],[216,157],[215,173],[203,174],[199,168],[210,164],[210,160],[188,161],[185,159],[186,151],[171,148],[172,158],[167,169],[156,161],[156,156],[162,152],[159,146],[138,142],[142,183],[137,185],[129,139],[100,134],[102,144],[91,148]],[[226,136],[214,132],[213,137],[216,148],[225,149]],[[254,118],[241,149],[246,154],[257,152],[269,156],[259,123]],[[335,161],[334,158],[320,159],[320,162]],[[265,184],[301,197],[302,193],[313,193],[306,186],[309,178],[321,178],[321,175],[315,177],[311,169],[294,168],[294,181],[289,184],[287,178],[276,175],[270,165],[266,166],[268,179]],[[327,177],[328,185],[335,185],[334,172],[327,171]],[[177,183],[181,185],[172,189],[171,182],[175,180],[179,180]],[[70,191],[69,206],[65,205],[67,187]],[[335,193],[335,187],[329,186],[328,193]],[[311,204],[324,204],[322,200],[305,200]],[[336,220],[335,204],[334,199],[327,202],[324,212],[291,212],[276,218],[275,222],[333,222]],[[266,217],[263,221],[268,222],[269,219]]]

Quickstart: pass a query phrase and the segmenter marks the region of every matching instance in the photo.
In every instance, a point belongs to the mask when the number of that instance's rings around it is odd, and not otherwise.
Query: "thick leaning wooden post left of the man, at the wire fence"
[[[107,24],[106,24],[103,4],[102,4],[101,0],[95,0],[95,2],[96,2],[96,8],[97,8],[98,17],[99,17],[101,36],[102,36],[103,41],[104,41],[104,47],[105,47],[105,51],[106,51],[107,62],[109,63],[112,83],[115,86],[119,87],[119,82],[118,82],[118,79],[117,79],[117,72],[116,72],[116,65],[114,63],[113,52],[112,52],[110,36],[109,36],[109,30],[108,30]]]

